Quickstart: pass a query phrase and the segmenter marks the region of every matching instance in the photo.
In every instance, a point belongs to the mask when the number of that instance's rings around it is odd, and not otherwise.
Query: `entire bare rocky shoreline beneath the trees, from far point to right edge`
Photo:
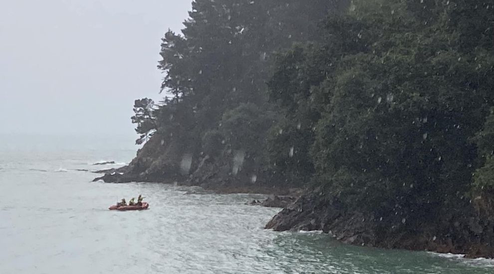
[[[352,245],[494,258],[494,220],[479,216],[468,202],[449,209],[445,207],[444,212],[428,221],[421,219],[423,216],[415,219],[394,214],[378,216],[351,210],[337,199],[321,196],[318,189],[308,192],[269,181],[253,183],[248,173],[232,176],[230,163],[208,157],[192,163],[190,172],[184,175],[178,164],[182,154],[175,151],[173,145],[162,145],[158,140],[159,137],[154,137],[147,142],[129,165],[97,171],[102,176],[93,181],[178,182],[201,187],[206,192],[268,194],[271,196],[265,201],[248,202],[283,208],[266,224],[266,229],[321,230]]]

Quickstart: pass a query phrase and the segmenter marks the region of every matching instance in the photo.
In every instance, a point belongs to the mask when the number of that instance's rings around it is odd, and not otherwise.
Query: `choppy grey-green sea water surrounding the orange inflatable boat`
[[[0,273],[484,274],[494,261],[344,245],[318,233],[263,225],[278,209],[258,195],[186,195],[165,184],[91,183],[100,160],[133,149],[0,150]],[[106,166],[111,167],[111,166]],[[114,212],[142,193],[150,209]]]

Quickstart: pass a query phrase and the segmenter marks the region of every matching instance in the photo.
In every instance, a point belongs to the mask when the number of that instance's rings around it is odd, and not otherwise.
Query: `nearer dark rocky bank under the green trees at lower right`
[[[418,216],[402,218],[350,210],[316,190],[276,214],[265,228],[321,230],[359,246],[494,258],[494,219],[479,216],[469,202],[445,208],[435,216]]]

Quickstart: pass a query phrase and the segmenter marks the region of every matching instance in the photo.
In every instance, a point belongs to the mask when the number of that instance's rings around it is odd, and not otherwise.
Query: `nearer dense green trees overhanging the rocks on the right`
[[[314,141],[299,144],[314,183],[350,206],[429,216],[492,189],[493,7],[354,0],[324,41],[281,55],[271,96],[310,121]]]

